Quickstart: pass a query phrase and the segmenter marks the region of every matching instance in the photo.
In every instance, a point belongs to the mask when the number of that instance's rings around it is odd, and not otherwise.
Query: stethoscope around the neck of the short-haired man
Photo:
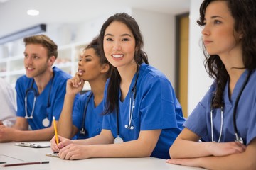
[[[54,72],[53,72],[53,78],[54,78]],[[47,108],[50,107],[50,91],[52,89],[52,86],[53,86],[53,78],[51,79],[51,83],[50,83],[50,90],[49,90],[49,93],[48,93],[48,103],[47,103]],[[37,93],[36,93],[36,89],[33,88],[33,83],[34,83],[34,79],[31,83],[31,87],[26,89],[26,94],[25,94],[25,118],[26,119],[33,119],[33,113],[34,113],[34,110],[35,110],[35,106],[36,106],[36,97],[38,96]],[[32,106],[32,111],[31,111],[31,115],[28,116],[28,105],[27,105],[27,98],[28,98],[28,94],[29,93],[32,93],[33,94],[33,106]],[[46,118],[43,119],[42,121],[42,124],[44,127],[48,127],[50,125],[50,120],[48,119],[48,113],[46,114]]]

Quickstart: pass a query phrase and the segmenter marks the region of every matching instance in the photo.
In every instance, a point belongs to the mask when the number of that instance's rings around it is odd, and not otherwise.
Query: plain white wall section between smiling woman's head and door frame
[[[140,9],[132,9],[132,16],[141,29],[149,64],[164,72],[174,86],[175,16]]]

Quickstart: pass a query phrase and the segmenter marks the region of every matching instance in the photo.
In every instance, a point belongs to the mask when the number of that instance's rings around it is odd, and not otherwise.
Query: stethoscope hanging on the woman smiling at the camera
[[[132,86],[132,94],[129,98],[129,120],[128,120],[128,124],[124,125],[124,128],[133,130],[134,126],[132,125],[132,115],[134,112],[134,108],[135,108],[135,98],[136,98],[136,86],[137,86],[137,80],[139,77],[139,67],[137,66],[137,72],[136,72],[136,79],[134,82],[134,86]],[[117,100],[117,137],[114,138],[114,144],[115,143],[122,143],[124,142],[124,140],[122,140],[121,137],[119,137],[119,101]]]

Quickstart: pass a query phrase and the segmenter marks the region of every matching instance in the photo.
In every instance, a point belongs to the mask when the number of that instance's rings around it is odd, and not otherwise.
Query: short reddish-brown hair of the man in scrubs
[[[23,38],[23,42],[25,43],[25,46],[29,44],[40,44],[48,50],[48,58],[51,56],[55,56],[55,58],[58,57],[58,45],[56,45],[55,42],[46,35],[32,35],[30,37]]]

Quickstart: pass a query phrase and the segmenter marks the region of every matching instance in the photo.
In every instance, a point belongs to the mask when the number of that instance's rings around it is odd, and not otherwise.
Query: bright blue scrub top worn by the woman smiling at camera
[[[134,129],[124,128],[129,123],[129,99],[135,79],[136,74],[134,74],[126,98],[123,102],[119,101],[119,136],[124,142],[127,142],[137,140],[141,130],[161,129],[161,135],[151,157],[169,159],[169,148],[183,129],[184,118],[181,105],[166,76],[154,67],[142,64],[139,67],[135,108],[132,115]],[[106,102],[108,84],[109,81],[105,88],[104,103]],[[119,95],[121,95],[120,91]],[[115,111],[103,117],[102,129],[111,130],[113,137],[117,137]]]

